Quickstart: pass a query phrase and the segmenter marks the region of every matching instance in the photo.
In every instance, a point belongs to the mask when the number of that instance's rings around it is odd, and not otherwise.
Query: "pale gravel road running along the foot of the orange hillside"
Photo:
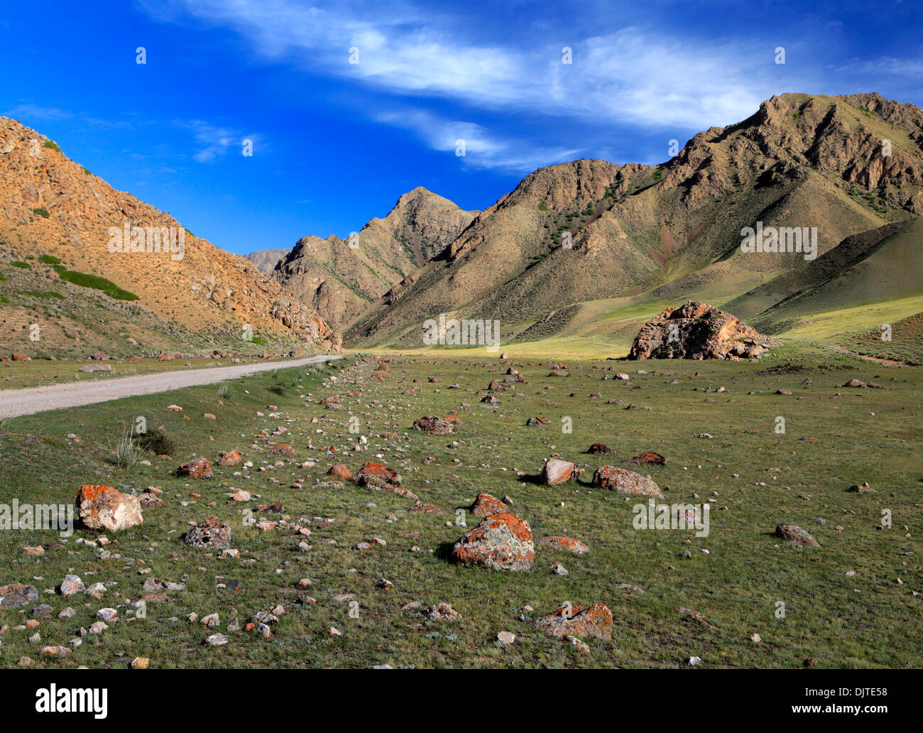
[[[52,384],[46,387],[30,387],[25,390],[3,390],[0,391],[0,415],[9,417],[34,415],[48,410],[120,400],[123,397],[134,397],[138,394],[153,394],[179,390],[183,387],[195,387],[199,384],[214,384],[225,379],[237,379],[271,369],[304,367],[306,364],[341,358],[342,356],[311,356],[305,359],[241,364],[234,367],[185,369],[163,374],[144,374],[137,377]]]

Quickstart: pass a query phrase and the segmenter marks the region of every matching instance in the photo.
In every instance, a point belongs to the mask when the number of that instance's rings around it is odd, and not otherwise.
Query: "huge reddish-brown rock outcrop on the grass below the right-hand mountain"
[[[643,326],[629,359],[750,359],[780,342],[701,300],[669,307]]]

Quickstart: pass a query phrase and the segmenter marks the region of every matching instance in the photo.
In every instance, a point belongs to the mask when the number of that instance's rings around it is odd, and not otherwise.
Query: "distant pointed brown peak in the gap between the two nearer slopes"
[[[345,240],[299,239],[273,274],[340,328],[438,255],[477,213],[417,187],[399,198],[386,217],[372,219]]]

